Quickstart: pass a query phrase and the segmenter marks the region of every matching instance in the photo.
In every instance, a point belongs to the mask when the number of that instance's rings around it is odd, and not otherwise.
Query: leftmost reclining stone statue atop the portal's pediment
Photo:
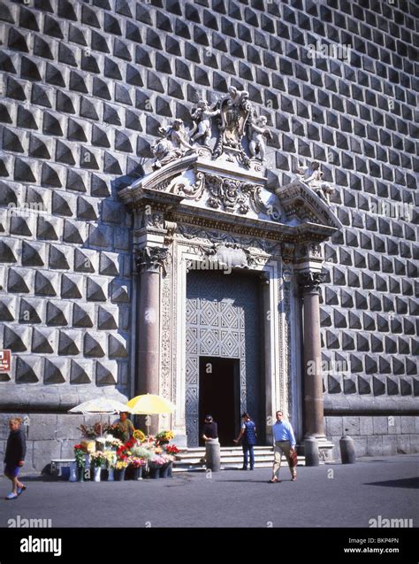
[[[153,168],[161,168],[171,160],[182,157],[187,151],[193,151],[194,147],[188,143],[187,131],[182,120],[174,120],[169,127],[159,127],[162,139],[157,141],[151,148],[156,160]]]

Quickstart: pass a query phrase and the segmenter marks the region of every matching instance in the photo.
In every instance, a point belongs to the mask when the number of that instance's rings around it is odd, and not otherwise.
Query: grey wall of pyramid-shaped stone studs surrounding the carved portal
[[[129,395],[118,188],[141,175],[162,122],[190,127],[200,97],[233,85],[267,117],[282,182],[316,158],[337,187],[344,228],[324,245],[321,305],[328,436],[351,413],[417,413],[417,16],[408,0],[2,0],[0,349],[14,361],[0,408],[64,413],[95,386]],[[312,58],[322,45],[349,55]]]

